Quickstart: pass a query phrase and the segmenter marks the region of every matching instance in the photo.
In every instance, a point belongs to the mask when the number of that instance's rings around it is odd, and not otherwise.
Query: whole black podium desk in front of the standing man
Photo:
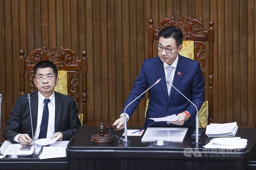
[[[141,129],[131,128],[128,129]],[[81,127],[68,143],[66,154],[69,169],[247,169],[256,149],[256,129],[238,129],[236,137],[248,139],[244,149],[205,149],[212,138],[199,137],[202,144],[192,144],[194,129],[188,129],[183,142],[172,142],[170,147],[148,147],[142,136],[128,136],[131,143],[93,143],[98,127]],[[124,130],[113,130],[121,137]]]

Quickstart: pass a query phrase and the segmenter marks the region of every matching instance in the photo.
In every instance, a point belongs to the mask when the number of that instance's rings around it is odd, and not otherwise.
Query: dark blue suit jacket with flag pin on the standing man
[[[180,74],[178,74],[178,72]],[[187,99],[185,99],[174,88],[171,89],[168,97],[166,79],[164,74],[164,63],[159,57],[150,58],[143,61],[140,73],[135,80],[133,89],[129,94],[124,108],[148,87],[153,85],[156,80],[162,78],[159,84],[149,89],[149,104],[145,118],[145,127],[196,127],[196,108]],[[182,92],[189,100],[191,100],[199,110],[204,102],[204,77],[201,72],[200,63],[179,55],[177,68],[174,74],[173,86]],[[126,108],[126,113],[132,116],[140,100],[141,96]],[[124,113],[124,108],[122,113]],[[167,124],[166,122],[154,122],[149,118],[164,117],[183,111],[188,111],[191,118],[185,121],[182,126]]]

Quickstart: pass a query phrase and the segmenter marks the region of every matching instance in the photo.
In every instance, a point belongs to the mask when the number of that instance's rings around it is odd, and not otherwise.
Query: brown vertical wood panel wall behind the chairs
[[[255,128],[255,15],[254,0],[0,0],[1,133],[20,95],[20,49],[86,50],[89,125],[112,124],[148,58],[148,20],[171,16],[214,21],[214,121]],[[128,125],[143,125],[145,101]]]

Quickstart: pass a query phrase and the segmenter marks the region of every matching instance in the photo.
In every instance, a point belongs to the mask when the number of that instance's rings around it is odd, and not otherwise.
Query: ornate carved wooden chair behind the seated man
[[[52,47],[50,49],[42,48],[35,49],[30,53],[26,58],[24,57],[25,52],[20,50],[20,58],[19,58],[19,70],[20,70],[20,95],[25,94],[25,86],[28,83],[29,92],[36,91],[37,88],[34,84],[34,75],[33,68],[36,63],[49,60],[57,66],[58,69],[58,77],[59,84],[55,87],[56,92],[60,92],[62,94],[71,96],[74,98],[76,102],[76,106],[78,109],[78,78],[79,72],[82,72],[82,77],[80,81],[82,81],[82,114],[79,114],[79,119],[81,124],[87,125],[87,108],[86,108],[86,100],[87,100],[87,58],[86,52],[82,52],[82,59],[79,60],[79,57],[76,56],[76,53],[70,49],[56,49]],[[25,72],[28,71],[29,81],[25,81]]]

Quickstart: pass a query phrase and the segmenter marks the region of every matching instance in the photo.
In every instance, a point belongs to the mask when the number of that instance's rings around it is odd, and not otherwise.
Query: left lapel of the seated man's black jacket
[[[31,115],[33,120],[33,134],[36,132],[37,113],[38,113],[38,91],[30,93],[31,95]]]

